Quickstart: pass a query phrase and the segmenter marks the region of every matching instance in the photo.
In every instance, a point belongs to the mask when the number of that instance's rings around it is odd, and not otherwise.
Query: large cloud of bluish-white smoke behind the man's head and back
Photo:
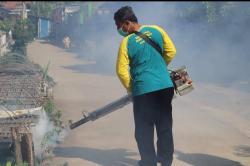
[[[199,4],[201,5],[201,2]],[[249,82],[249,78],[244,77],[248,74],[250,66],[247,53],[248,26],[244,25],[244,22],[247,24],[247,20],[249,22],[249,15],[240,12],[247,6],[243,3],[235,9],[237,12],[232,11],[229,20],[226,17],[220,18],[220,24],[209,26],[206,19],[192,21],[179,17],[181,12],[184,15],[188,14],[184,10],[188,5],[193,5],[195,9],[200,8],[206,13],[206,9],[195,2],[107,2],[103,8],[109,9],[109,14],[93,18],[91,24],[87,24],[84,31],[77,36],[83,41],[91,41],[91,46],[83,44],[85,46],[78,52],[79,57],[91,57],[91,60],[97,61],[97,65],[86,65],[76,69],[81,72],[95,70],[99,74],[107,74],[104,71],[115,71],[122,37],[116,32],[113,14],[125,5],[133,8],[140,24],[159,25],[168,32],[177,49],[177,55],[170,68],[185,64],[196,82],[209,82],[227,87],[232,86],[233,81],[233,84],[240,87],[243,85],[239,82]],[[115,72],[109,73],[115,75]]]

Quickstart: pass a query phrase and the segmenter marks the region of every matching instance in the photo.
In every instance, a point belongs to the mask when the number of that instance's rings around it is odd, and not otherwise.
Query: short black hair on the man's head
[[[114,14],[114,20],[116,22],[131,21],[138,23],[137,17],[130,6],[124,6],[118,9]]]

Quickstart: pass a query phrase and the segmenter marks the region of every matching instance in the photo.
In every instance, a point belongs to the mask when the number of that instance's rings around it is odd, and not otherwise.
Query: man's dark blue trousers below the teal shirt
[[[172,99],[174,89],[166,88],[133,97],[135,139],[140,166],[171,166],[174,143],[172,134]],[[154,147],[154,127],[157,132],[157,153]]]

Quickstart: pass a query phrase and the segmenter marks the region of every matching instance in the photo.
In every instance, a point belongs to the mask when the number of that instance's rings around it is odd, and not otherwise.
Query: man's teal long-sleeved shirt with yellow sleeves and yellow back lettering
[[[141,37],[126,36],[119,48],[116,72],[127,91],[133,96],[173,87],[167,65],[176,54],[167,32],[159,26],[144,25],[140,32],[154,40],[163,50],[163,56]]]

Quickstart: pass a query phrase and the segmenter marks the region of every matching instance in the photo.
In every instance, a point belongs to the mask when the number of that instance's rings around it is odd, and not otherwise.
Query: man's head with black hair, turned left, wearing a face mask
[[[133,33],[134,25],[138,24],[137,17],[130,6],[118,9],[114,14],[114,20],[117,30],[122,30],[128,34]]]

